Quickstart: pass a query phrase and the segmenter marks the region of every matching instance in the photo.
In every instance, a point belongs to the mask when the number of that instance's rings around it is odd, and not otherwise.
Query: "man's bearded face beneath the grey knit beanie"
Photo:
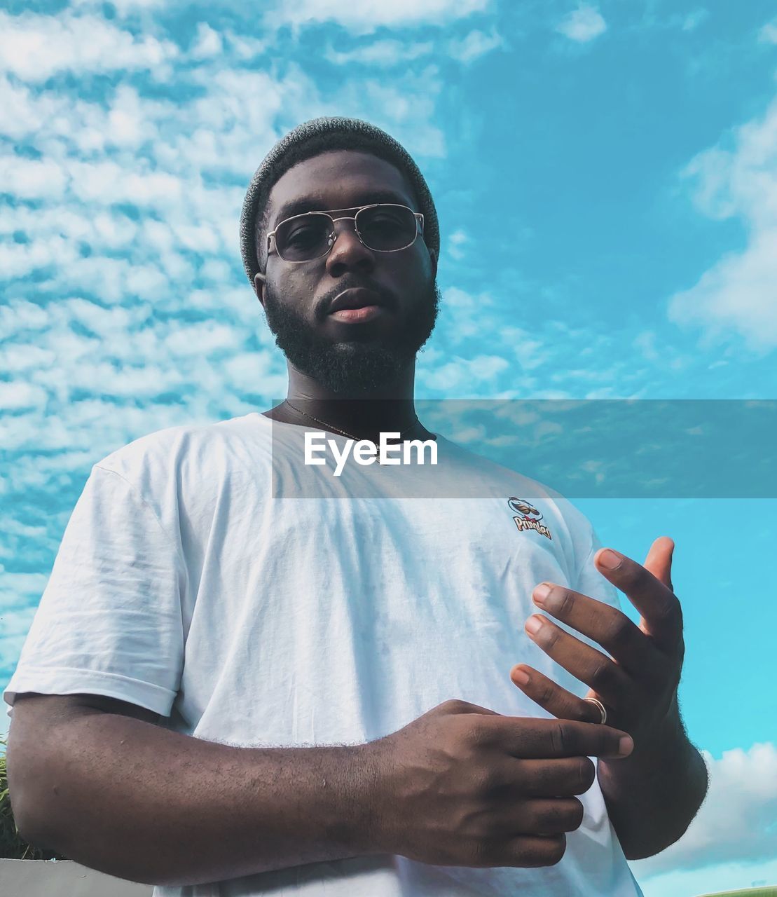
[[[389,162],[367,152],[324,152],[277,180],[267,231],[293,214],[345,210],[337,218],[376,202],[419,211],[405,176]],[[256,286],[275,343],[292,365],[331,392],[356,396],[396,379],[432,334],[440,301],[437,260],[420,234],[406,249],[378,252],[362,245],[353,221],[336,222],[335,232],[323,258],[292,263],[271,252],[266,280],[257,278]],[[374,291],[380,314],[362,323],[333,318],[331,302],[352,287]]]

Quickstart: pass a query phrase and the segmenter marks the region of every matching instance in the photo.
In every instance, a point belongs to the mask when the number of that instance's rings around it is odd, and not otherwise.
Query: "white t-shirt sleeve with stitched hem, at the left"
[[[100,694],[170,716],[183,668],[177,543],[122,475],[93,466],[3,698]]]

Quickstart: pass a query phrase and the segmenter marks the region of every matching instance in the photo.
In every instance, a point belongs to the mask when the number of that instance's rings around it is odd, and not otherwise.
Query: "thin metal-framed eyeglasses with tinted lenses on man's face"
[[[332,209],[331,213],[348,209]],[[398,252],[415,243],[423,234],[423,214],[406,205],[374,203],[362,205],[355,215],[333,218],[329,212],[306,212],[293,215],[275,226],[267,234],[267,252],[270,240],[275,239],[275,250],[284,262],[311,262],[327,256],[335,245],[335,222],[352,221],[362,245],[375,252]]]

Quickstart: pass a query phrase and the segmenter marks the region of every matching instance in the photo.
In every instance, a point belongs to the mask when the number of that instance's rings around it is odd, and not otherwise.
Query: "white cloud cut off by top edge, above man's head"
[[[369,34],[381,26],[441,25],[483,12],[490,0],[362,0],[358,4],[332,4],[329,0],[283,3],[266,14],[268,27],[282,24],[299,30],[305,25],[336,22],[355,34]]]

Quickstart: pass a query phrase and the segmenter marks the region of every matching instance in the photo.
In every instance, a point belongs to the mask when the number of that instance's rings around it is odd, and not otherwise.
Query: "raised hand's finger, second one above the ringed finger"
[[[664,658],[640,627],[617,607],[552,582],[541,582],[532,593],[532,599],[556,620],[597,641],[635,677],[664,663]]]

